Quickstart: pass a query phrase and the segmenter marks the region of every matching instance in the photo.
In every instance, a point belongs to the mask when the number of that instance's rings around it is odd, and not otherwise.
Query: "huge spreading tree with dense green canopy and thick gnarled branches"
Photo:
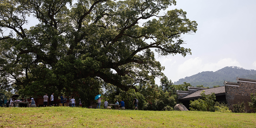
[[[163,76],[160,56],[191,54],[197,23],[175,0],[2,0],[0,84],[59,91],[88,77],[121,90]],[[26,28],[28,16],[39,24]],[[9,34],[7,31],[11,30]],[[76,86],[83,86],[77,84]],[[35,87],[36,86],[36,87]]]

